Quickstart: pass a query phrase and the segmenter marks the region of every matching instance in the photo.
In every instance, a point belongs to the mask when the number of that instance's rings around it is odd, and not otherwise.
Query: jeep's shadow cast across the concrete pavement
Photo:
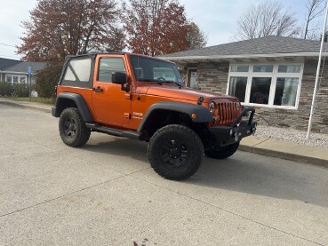
[[[83,148],[84,151],[108,155],[108,158],[109,155],[129,156],[148,163],[147,146],[148,143],[138,140],[105,135],[105,138],[96,138]],[[328,207],[328,180],[314,178],[320,171],[320,168],[308,164],[237,151],[225,160],[204,156],[196,175],[180,182]]]

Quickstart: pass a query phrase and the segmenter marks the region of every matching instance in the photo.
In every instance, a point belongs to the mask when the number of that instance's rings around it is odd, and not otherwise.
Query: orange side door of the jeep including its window
[[[124,57],[99,56],[95,64],[92,88],[92,107],[98,122],[123,126],[130,122],[131,95],[121,85],[111,83],[112,74],[126,73]]]

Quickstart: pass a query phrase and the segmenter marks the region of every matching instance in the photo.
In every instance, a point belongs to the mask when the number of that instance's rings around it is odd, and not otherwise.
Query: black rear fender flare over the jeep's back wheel
[[[84,122],[92,122],[92,115],[82,95],[72,92],[60,93],[57,96],[55,106],[52,107],[52,115],[59,117],[61,112],[67,107],[77,107]]]

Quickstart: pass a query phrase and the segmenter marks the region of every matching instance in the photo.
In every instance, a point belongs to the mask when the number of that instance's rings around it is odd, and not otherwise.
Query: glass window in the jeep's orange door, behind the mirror
[[[122,58],[101,58],[99,65],[98,81],[112,82],[112,74],[126,73]]]

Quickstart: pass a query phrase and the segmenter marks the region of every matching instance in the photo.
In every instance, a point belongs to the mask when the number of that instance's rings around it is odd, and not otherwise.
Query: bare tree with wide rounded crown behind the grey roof
[[[267,1],[252,5],[237,21],[235,39],[245,40],[263,36],[297,36],[295,15],[284,10],[283,4]]]

